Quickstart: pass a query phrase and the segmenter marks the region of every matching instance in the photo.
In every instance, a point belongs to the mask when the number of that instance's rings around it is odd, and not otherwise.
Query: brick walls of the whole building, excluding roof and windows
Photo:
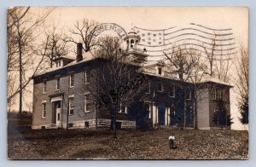
[[[84,70],[87,72],[93,70],[91,66],[79,66],[77,70],[65,72],[55,72],[55,75],[48,76],[47,81],[47,92],[43,94],[43,83],[35,82],[34,83],[34,94],[33,94],[33,119],[32,119],[32,128],[39,129],[42,126],[45,128],[66,128],[67,127],[67,108],[68,108],[68,97],[73,96],[74,98],[74,113],[68,116],[68,123],[73,123],[73,129],[75,128],[85,128],[85,122],[88,122],[89,128],[97,127],[106,127],[110,124],[110,113],[106,108],[97,108],[95,104],[91,104],[90,112],[84,112],[84,94],[87,92],[87,86],[84,83]],[[74,87],[69,88],[69,75],[67,73],[74,73]],[[47,77],[47,76],[46,76]],[[60,90],[55,91],[55,78],[60,77]],[[163,91],[159,91],[158,84],[162,83]],[[188,87],[191,86],[188,84]],[[175,85],[175,97],[170,97],[169,86]],[[159,124],[159,107],[164,107],[165,109],[165,125],[183,125],[184,119],[184,110],[186,103],[186,109],[190,112],[193,112],[194,108],[194,92],[191,93],[191,100],[183,99],[184,89],[179,89],[180,85],[184,86],[184,83],[174,81],[170,78],[160,78],[159,76],[150,78],[150,92],[145,93],[148,88],[145,88],[145,91],[137,99],[140,101],[148,102],[150,104],[150,118],[148,118],[148,111],[143,108],[143,103],[137,101],[134,103],[133,107],[127,108],[127,113],[118,113],[117,121],[121,122],[122,127],[132,127],[138,125],[137,117],[144,119],[143,123],[153,126]],[[228,89],[229,90],[229,89]],[[201,89],[199,90],[202,98],[197,104],[197,120],[199,129],[209,129],[213,127],[212,124],[212,111],[218,107],[216,101],[212,101],[209,98],[210,90]],[[228,91],[229,96],[229,91]],[[61,101],[61,124],[58,126],[52,126],[53,121],[53,105],[51,100],[52,95],[63,95]],[[46,118],[42,118],[42,101],[46,101]],[[229,98],[230,101],[230,98]],[[228,112],[230,112],[230,102],[226,101],[224,103],[227,107]],[[141,107],[138,107],[141,105]],[[139,112],[139,114],[138,114]],[[187,118],[190,116],[187,116]],[[190,122],[187,122],[187,127],[193,127],[194,120],[193,117],[190,118]],[[143,124],[139,126],[144,127]]]

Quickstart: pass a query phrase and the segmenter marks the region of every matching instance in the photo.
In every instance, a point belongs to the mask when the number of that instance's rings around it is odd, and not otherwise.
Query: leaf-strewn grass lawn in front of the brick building
[[[176,136],[176,150],[168,136]],[[236,130],[9,130],[11,159],[247,159],[248,133]]]

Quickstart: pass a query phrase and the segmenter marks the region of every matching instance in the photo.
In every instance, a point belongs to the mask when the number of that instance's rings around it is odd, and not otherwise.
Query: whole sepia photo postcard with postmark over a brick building
[[[247,159],[246,7],[10,7],[9,159]]]

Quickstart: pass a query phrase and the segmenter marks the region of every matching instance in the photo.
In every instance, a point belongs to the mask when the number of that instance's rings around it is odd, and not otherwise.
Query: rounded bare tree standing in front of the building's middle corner
[[[103,37],[98,42],[96,51],[97,68],[90,73],[88,90],[91,98],[98,101],[101,108],[107,108],[111,117],[111,129],[116,137],[116,120],[118,112],[139,97],[145,85],[147,76],[138,74],[138,66],[122,53],[120,39]]]

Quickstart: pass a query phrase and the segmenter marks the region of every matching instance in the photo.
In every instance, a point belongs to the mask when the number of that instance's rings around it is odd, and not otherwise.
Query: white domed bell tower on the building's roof
[[[141,37],[137,35],[137,32],[134,31],[133,28],[131,28],[131,31],[128,32],[128,35],[125,37],[126,42],[126,50],[136,50],[137,49],[137,43],[140,42]]]

